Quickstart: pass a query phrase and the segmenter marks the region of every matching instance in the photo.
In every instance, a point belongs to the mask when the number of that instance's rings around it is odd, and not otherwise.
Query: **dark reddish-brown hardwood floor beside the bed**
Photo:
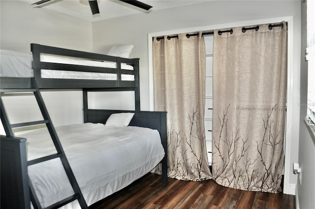
[[[147,174],[90,209],[295,209],[295,197],[218,185],[213,180],[183,181]]]

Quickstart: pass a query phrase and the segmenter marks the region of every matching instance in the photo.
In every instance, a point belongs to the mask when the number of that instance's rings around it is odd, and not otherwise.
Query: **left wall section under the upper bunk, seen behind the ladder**
[[[54,125],[83,122],[82,90],[41,90],[41,94]],[[2,101],[12,124],[43,119],[32,93],[23,96],[3,96]]]

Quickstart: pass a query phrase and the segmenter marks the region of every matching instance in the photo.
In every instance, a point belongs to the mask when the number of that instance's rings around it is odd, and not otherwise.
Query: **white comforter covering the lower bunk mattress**
[[[164,156],[158,131],[149,128],[83,123],[56,131],[88,205],[144,176]],[[19,136],[27,138],[28,160],[57,152],[47,129]],[[28,172],[42,207],[73,194],[59,158],[29,166]],[[80,206],[74,201],[63,208]]]

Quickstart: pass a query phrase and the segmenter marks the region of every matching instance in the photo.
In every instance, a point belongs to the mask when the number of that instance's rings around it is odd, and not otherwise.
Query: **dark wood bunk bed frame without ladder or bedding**
[[[162,159],[162,181],[167,183],[167,132],[166,132],[166,112],[140,111],[139,93],[139,59],[124,59],[95,53],[87,53],[75,50],[68,50],[38,44],[31,44],[33,54],[32,67],[34,70],[34,80],[39,89],[82,89],[83,90],[83,113],[84,122],[105,123],[113,113],[134,112],[131,126],[148,127],[157,129],[161,143],[165,151]],[[40,60],[40,54],[66,56],[79,59],[113,61],[117,68],[91,67],[73,64],[48,63]],[[121,69],[121,63],[133,66],[134,70]],[[117,80],[81,80],[81,79],[51,79],[41,78],[41,69],[69,70],[80,72],[105,72],[117,75]],[[122,81],[122,74],[134,75],[134,81]],[[19,89],[32,89],[32,78],[0,78],[0,90],[2,92],[15,91]],[[135,110],[95,110],[88,108],[89,91],[134,91]],[[8,121],[3,121],[2,123]],[[5,126],[5,124],[3,124]],[[27,139],[7,136],[0,136],[0,200],[1,208],[29,209],[30,208],[30,188],[28,178],[27,162]]]

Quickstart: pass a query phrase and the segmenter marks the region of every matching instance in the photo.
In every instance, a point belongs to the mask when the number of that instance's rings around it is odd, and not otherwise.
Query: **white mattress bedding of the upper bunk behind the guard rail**
[[[23,77],[32,78],[32,54],[1,50],[0,56],[0,76],[1,77]],[[79,60],[72,58],[54,57],[41,55],[40,60],[43,62],[54,62],[64,64],[76,64],[96,67],[116,68],[116,62]],[[121,64],[121,69],[133,70],[131,65]],[[42,78],[62,78],[62,79],[96,79],[96,80],[117,80],[116,74],[112,73],[90,73],[63,70],[41,70]],[[134,81],[134,75],[122,74],[123,81]]]

